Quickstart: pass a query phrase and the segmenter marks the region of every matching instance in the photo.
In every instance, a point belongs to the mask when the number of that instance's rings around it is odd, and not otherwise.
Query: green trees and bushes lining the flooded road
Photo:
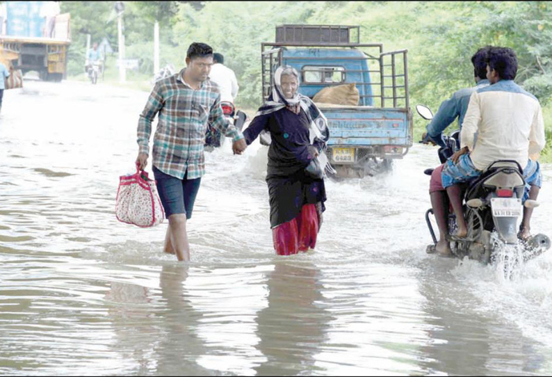
[[[107,38],[105,82],[117,83],[117,19],[113,1],[63,1],[71,13],[73,42],[68,76],[84,79],[86,34]],[[206,42],[225,55],[240,84],[236,105],[252,113],[261,104],[261,42],[273,41],[281,24],[361,26],[361,42],[381,42],[386,51],[408,49],[410,106],[437,111],[443,99],[473,85],[471,55],[485,45],[517,52],[517,83],[535,94],[548,138],[542,161],[552,162],[552,3],[548,1],[124,1],[126,58],[140,61],[127,71],[127,87],[149,90],[153,77],[153,25],[159,21],[161,67],[184,67],[191,42]],[[94,15],[94,17],[90,17]],[[346,21],[343,21],[346,20]],[[414,114],[414,140],[425,121]],[[450,127],[452,130],[454,127]]]

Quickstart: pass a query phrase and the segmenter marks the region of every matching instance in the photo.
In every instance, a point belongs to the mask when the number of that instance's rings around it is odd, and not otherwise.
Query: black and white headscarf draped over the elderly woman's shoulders
[[[314,141],[319,141],[323,144],[323,150],[318,155],[318,160],[320,162],[320,167],[323,170],[327,170],[330,173],[335,173],[334,168],[330,166],[330,163],[327,161],[325,150],[327,147],[327,141],[330,138],[330,130],[327,127],[327,119],[324,114],[318,109],[318,107],[312,102],[312,99],[306,95],[302,95],[299,91],[295,92],[293,98],[286,98],[282,92],[282,76],[283,75],[293,75],[297,79],[299,87],[299,74],[295,68],[290,65],[281,65],[277,67],[274,72],[274,85],[272,88],[272,93],[268,96],[268,100],[259,108],[259,111],[255,114],[257,115],[266,115],[274,113],[280,109],[287,107],[293,113],[298,114],[299,109],[303,109],[307,118],[309,119],[309,141],[311,145]]]

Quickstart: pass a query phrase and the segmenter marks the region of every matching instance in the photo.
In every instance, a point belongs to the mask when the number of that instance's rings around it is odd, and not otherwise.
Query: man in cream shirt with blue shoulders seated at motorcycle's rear
[[[441,179],[448,194],[458,230],[456,236],[468,234],[462,210],[459,184],[478,177],[497,160],[519,163],[530,191],[523,196],[536,199],[542,184],[539,163],[529,157],[544,148],[544,122],[538,99],[514,83],[517,57],[508,47],[492,47],[487,55],[487,79],[490,86],[474,92],[464,116],[461,147],[446,161]],[[532,211],[523,209],[519,238],[530,235]]]

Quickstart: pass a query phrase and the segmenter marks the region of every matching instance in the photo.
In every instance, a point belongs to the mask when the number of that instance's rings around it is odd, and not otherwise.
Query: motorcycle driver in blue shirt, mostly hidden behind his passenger
[[[443,141],[443,131],[454,122],[456,118],[458,119],[458,126],[462,129],[462,122],[464,121],[466,110],[468,109],[471,93],[477,89],[489,86],[489,80],[487,80],[487,63],[485,62],[489,48],[490,46],[481,47],[471,56],[476,86],[457,90],[449,99],[441,102],[439,110],[428,126],[425,127],[427,131],[422,136],[424,144],[432,143],[433,145],[439,145],[444,147],[444,150],[441,152],[447,153],[446,151],[448,151],[448,148],[446,148]],[[450,154],[452,154],[452,151],[449,152],[448,156],[450,156]],[[448,241],[446,240],[446,234],[448,233],[446,220],[448,200],[446,191],[441,184],[442,169],[443,165],[435,168],[430,179],[431,207],[435,220],[437,221],[437,227],[439,228],[439,241],[437,245],[428,246],[427,251],[437,251],[439,255],[450,255],[450,246],[448,246]]]

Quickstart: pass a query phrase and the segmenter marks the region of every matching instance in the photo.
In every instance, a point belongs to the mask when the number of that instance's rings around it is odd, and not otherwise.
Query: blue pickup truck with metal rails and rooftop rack
[[[327,157],[337,177],[391,170],[412,147],[407,50],[385,52],[360,43],[359,26],[282,25],[275,42],[261,43],[263,101],[279,65],[300,73],[299,92],[313,98],[323,88],[355,83],[355,105],[320,103],[330,127]]]

